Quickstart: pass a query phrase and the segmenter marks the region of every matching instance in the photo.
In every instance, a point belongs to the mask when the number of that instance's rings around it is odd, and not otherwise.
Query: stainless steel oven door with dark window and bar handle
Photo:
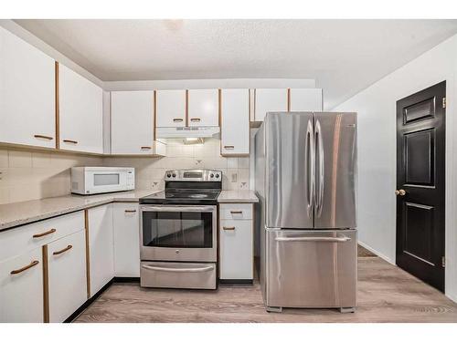
[[[216,205],[142,205],[141,259],[217,261]]]

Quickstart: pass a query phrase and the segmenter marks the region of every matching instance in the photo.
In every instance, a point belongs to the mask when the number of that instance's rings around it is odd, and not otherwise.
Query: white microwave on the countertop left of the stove
[[[135,188],[134,168],[71,168],[71,192],[90,195],[103,192],[125,192]]]

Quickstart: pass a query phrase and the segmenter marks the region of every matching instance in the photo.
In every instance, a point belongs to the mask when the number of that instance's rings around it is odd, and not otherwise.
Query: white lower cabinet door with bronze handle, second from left
[[[48,265],[49,322],[63,322],[87,300],[84,231],[48,244]]]

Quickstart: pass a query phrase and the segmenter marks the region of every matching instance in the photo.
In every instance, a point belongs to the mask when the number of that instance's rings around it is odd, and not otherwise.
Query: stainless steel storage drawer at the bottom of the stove
[[[216,289],[216,264],[142,262],[143,287]]]

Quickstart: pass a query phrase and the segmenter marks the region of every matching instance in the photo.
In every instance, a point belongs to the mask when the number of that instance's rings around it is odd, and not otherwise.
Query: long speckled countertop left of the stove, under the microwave
[[[100,195],[67,195],[27,202],[0,204],[0,232],[16,225],[34,223],[64,213],[77,212],[110,202],[138,202],[152,190],[112,192]]]

